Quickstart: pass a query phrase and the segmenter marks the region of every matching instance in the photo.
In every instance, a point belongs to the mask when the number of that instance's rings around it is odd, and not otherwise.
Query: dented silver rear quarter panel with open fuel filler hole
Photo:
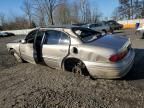
[[[73,53],[73,47],[78,49],[78,54]],[[105,49],[97,46],[90,46],[85,44],[71,45],[69,57],[74,57],[77,59],[89,62],[107,62],[110,55],[114,51],[110,49]]]

